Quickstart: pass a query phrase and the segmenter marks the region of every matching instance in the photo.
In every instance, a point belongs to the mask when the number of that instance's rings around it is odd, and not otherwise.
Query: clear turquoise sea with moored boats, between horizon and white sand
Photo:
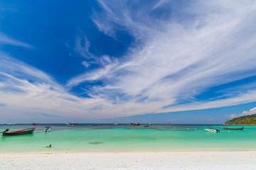
[[[30,126],[0,125],[0,131]],[[50,132],[43,132],[46,126],[51,127]],[[211,126],[220,132],[203,130]],[[256,126],[244,127],[223,130],[220,125],[39,124],[31,135],[0,136],[0,153],[256,150]],[[48,145],[53,147],[47,148]]]

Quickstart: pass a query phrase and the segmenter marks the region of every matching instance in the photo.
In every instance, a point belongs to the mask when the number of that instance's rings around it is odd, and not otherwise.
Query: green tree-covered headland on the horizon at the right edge
[[[256,125],[256,114],[244,115],[225,122],[225,125]]]

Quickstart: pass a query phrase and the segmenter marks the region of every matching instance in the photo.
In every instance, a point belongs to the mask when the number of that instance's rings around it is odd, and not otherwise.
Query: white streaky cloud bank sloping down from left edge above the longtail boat
[[[68,121],[71,117],[75,120],[92,119],[98,116],[92,114],[95,108],[107,105],[107,101],[97,96],[79,98],[70,94],[48,74],[8,55],[1,56],[0,103],[8,107],[1,107],[0,110],[6,120],[17,118],[24,121],[23,113],[35,113],[34,117],[38,120],[42,116],[53,115],[53,122],[60,121],[58,118]],[[38,115],[38,111],[43,115]]]

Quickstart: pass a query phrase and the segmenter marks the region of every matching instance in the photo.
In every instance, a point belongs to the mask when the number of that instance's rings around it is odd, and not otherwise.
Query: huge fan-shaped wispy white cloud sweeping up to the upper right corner
[[[253,87],[251,91],[237,89],[241,94],[217,101],[195,98],[210,87],[255,75],[255,1],[196,1],[176,4],[177,9],[170,1],[153,1],[146,6],[98,2],[104,11],[92,16],[97,28],[112,38],[125,29],[138,40],[137,45],[122,60],[70,79],[68,86],[103,81],[104,86],[92,88],[90,93],[100,92],[102,98],[122,103],[121,111],[131,115],[255,101],[249,94],[255,94]],[[124,99],[113,99],[114,95]],[[192,103],[164,107],[180,100]],[[137,111],[125,110],[129,106]],[[149,109],[143,110],[145,107]]]

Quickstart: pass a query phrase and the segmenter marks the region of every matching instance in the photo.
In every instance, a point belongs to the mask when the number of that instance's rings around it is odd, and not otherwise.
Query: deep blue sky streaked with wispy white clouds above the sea
[[[0,123],[256,113],[256,1],[0,2]]]

